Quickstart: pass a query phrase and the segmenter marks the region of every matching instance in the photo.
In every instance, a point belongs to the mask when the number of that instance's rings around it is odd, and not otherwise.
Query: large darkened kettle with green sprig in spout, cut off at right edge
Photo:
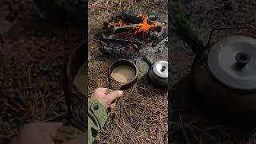
[[[196,34],[185,34],[191,31],[188,26],[178,24],[181,21],[174,23],[179,36],[196,54],[191,75],[199,103],[210,110],[210,115],[225,121],[255,122],[256,39],[234,35],[210,44],[214,30],[240,29],[218,28],[211,31],[207,45],[202,46]]]

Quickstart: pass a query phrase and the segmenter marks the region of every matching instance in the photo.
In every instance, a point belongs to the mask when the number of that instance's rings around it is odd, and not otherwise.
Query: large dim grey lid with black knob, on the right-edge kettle
[[[207,65],[210,73],[226,86],[256,90],[256,39],[223,38],[208,51]]]

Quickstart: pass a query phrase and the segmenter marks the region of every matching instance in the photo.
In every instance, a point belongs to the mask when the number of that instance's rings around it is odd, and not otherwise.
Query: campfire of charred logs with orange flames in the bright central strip
[[[103,23],[100,51],[134,58],[143,46],[163,38],[166,22],[158,22],[157,19],[157,14],[110,14]]]

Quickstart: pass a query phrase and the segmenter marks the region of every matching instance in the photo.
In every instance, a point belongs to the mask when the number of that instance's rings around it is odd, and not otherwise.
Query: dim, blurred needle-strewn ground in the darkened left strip
[[[68,33],[62,23],[39,18],[30,1],[17,1],[12,12],[8,2],[0,4],[0,140],[11,141],[28,122],[70,125],[63,70],[83,34],[81,28]]]

